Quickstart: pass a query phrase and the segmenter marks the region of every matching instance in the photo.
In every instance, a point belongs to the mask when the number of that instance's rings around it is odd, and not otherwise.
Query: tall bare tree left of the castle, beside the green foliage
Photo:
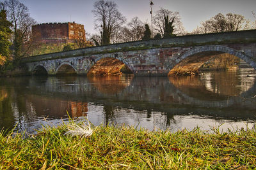
[[[27,6],[18,0],[4,1],[4,8],[6,8],[8,20],[13,24],[13,57],[19,60],[31,48],[31,26],[36,22],[29,17]]]

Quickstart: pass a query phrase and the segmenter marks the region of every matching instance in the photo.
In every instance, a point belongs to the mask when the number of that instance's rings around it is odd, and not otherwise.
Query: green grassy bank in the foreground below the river
[[[67,134],[67,129],[65,124],[44,127],[29,138],[1,131],[0,169],[256,168],[255,129],[171,133],[100,126],[88,138]]]

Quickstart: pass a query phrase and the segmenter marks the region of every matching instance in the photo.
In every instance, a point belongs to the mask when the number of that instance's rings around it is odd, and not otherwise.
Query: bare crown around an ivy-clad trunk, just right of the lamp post
[[[161,8],[160,10],[156,11],[156,15],[154,16],[154,27],[156,29],[156,32],[161,34],[161,36],[164,36],[164,16],[168,17],[168,22],[172,22],[173,24],[173,34],[175,35],[183,35],[185,33],[185,29],[183,27],[182,22],[180,21],[180,14],[179,12],[166,10],[164,8]]]

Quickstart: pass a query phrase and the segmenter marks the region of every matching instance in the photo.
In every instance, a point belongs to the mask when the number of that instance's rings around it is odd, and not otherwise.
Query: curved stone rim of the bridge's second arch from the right
[[[95,60],[93,60],[92,64],[90,64],[90,66],[87,68],[87,72],[89,73],[90,70],[93,68],[93,66],[95,66],[95,64],[97,64],[97,62],[99,62],[100,60],[109,58],[109,59],[113,59],[116,61],[118,60],[124,63],[124,65],[128,67],[132,71],[132,73],[134,73],[134,67],[131,64],[129,64],[127,60],[125,60],[125,57],[116,57],[116,56],[117,56],[116,54],[111,53],[111,54],[101,55],[100,57],[97,57]]]

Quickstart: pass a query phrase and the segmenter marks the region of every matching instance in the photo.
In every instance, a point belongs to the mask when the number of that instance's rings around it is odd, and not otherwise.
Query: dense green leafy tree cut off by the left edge
[[[10,42],[12,31],[10,29],[12,23],[6,19],[6,11],[0,11],[0,65],[10,57],[9,46],[12,44]]]

